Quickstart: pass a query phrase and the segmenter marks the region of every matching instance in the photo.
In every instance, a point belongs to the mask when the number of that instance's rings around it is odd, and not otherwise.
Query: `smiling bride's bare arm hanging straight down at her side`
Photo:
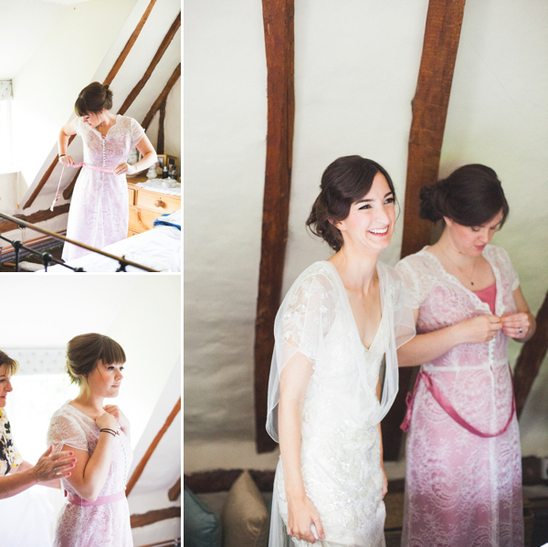
[[[298,540],[316,542],[313,522],[322,538],[320,515],[304,490],[300,473],[300,422],[304,394],[312,373],[312,363],[302,353],[295,353],[281,371],[279,378],[279,453],[283,465],[288,498],[288,533]]]

